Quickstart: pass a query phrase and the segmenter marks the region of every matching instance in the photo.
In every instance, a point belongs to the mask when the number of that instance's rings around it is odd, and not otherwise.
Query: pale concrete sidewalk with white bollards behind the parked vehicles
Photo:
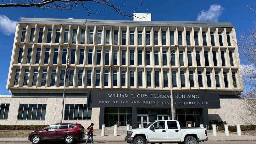
[[[94,131],[93,140],[95,142],[110,142],[110,141],[124,141],[126,136],[126,130],[118,130],[118,135],[114,136],[114,130],[105,130],[105,136],[101,136],[101,130]],[[225,136],[225,132],[217,132],[217,136],[213,136],[212,132],[207,132],[209,137],[208,141],[255,141],[256,136],[242,135],[237,136],[237,134],[229,134]],[[87,138],[87,136],[86,136]],[[22,138],[0,138],[0,142],[29,142],[26,137]]]

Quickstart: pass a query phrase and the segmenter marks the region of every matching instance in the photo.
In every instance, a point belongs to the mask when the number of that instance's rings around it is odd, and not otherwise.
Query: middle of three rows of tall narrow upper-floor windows
[[[51,61],[51,64],[57,64],[58,61],[58,56],[61,57],[61,63],[60,64],[66,64],[66,54],[67,54],[67,48],[63,48],[62,49],[62,54],[60,54],[58,48],[54,48],[53,50],[53,58]],[[187,50],[186,54],[187,54],[187,64],[188,66],[192,66],[193,62],[192,60],[196,60],[196,66],[202,66],[201,62],[202,62],[202,56],[201,54],[204,55],[204,63],[205,66],[209,66],[209,57],[210,59],[213,59],[213,65],[214,66],[218,66],[218,56],[220,56],[220,60],[221,60],[221,66],[226,66],[226,61],[225,61],[225,55],[228,52],[228,56],[229,56],[229,62],[230,62],[230,66],[234,66],[234,61],[233,61],[233,51],[229,50],[220,50],[220,52],[218,52],[218,50],[212,50],[212,56],[210,55],[210,51],[209,50],[195,50],[195,52],[193,52],[193,50]],[[80,49],[79,53],[76,52],[76,49],[71,49],[71,56],[69,57],[70,59],[70,64],[75,64],[75,61],[77,60],[78,62],[76,62],[76,64],[84,64],[84,59],[85,59],[85,50],[84,49]],[[103,54],[102,54],[103,53]],[[104,52],[102,52],[101,49],[96,49],[93,53],[93,49],[88,49],[86,52],[86,56],[87,56],[87,65],[92,65],[93,62],[93,55],[95,57],[95,64],[96,65],[100,65],[102,58],[104,59],[103,64],[104,65],[110,65],[110,50],[109,49],[105,49]],[[17,59],[17,63],[21,63],[22,62],[22,54],[23,54],[23,48],[19,48],[19,56]],[[145,55],[145,65],[153,65],[154,66],[159,66],[160,62],[159,59],[162,58],[162,65],[163,66],[167,66],[167,63],[169,63],[169,59],[168,56],[171,56],[171,65],[175,66],[176,62],[175,62],[175,56],[178,57],[179,59],[179,66],[184,66],[184,59],[186,57],[184,57],[185,54],[185,50],[178,50],[178,52],[176,52],[175,50],[170,51],[170,53],[168,53],[167,50],[162,50],[162,52],[160,50],[153,50],[153,52],[151,50],[146,50],[146,53],[143,53],[142,50],[137,50],[137,65],[140,66],[142,65],[142,55]],[[32,48],[28,48],[27,51],[27,55],[26,55],[26,64],[31,63],[31,55],[32,55]],[[49,63],[49,56],[50,56],[50,49],[49,48],[45,48],[45,52],[43,54],[44,59],[41,59],[40,63],[40,55],[41,55],[41,48],[37,48],[36,49],[36,53],[35,56],[36,58],[34,59],[34,64],[48,64]],[[102,56],[103,55],[103,56]],[[118,50],[117,49],[113,49],[112,51],[112,64],[111,65],[118,65]],[[127,55],[127,56],[126,56]],[[129,65],[136,65],[135,64],[135,51],[134,50],[129,50],[129,54],[127,54],[126,50],[121,50],[120,52],[120,65],[126,65],[127,62],[129,62]],[[168,56],[167,56],[168,55]],[[24,56],[25,57],[25,54]],[[78,57],[78,58],[77,58]],[[153,57],[153,58],[152,58]],[[126,62],[126,59],[129,59],[129,61]],[[25,59],[25,58],[24,58]],[[152,61],[153,60],[153,61]]]

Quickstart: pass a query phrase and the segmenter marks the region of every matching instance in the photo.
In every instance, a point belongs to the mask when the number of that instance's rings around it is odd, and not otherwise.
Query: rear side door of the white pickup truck
[[[167,141],[181,141],[181,127],[176,121],[167,121]]]

